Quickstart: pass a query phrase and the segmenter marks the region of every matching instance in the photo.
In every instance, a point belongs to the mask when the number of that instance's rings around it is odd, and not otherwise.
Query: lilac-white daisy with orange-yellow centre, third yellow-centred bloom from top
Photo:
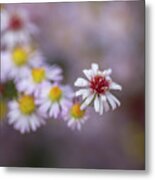
[[[42,88],[37,104],[41,113],[48,117],[64,117],[72,104],[73,92],[69,86],[48,84]]]

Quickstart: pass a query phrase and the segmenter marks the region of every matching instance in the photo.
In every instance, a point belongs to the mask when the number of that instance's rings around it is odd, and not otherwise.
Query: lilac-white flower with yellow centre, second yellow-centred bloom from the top
[[[34,94],[37,97],[41,88],[50,81],[58,82],[62,80],[62,70],[58,66],[41,66],[32,68],[27,76],[17,82],[19,92]]]

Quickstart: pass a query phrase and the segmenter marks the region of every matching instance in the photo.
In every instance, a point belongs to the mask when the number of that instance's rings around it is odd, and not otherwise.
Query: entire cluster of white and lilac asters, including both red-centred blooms
[[[110,92],[122,89],[112,81],[111,69],[100,71],[93,63],[91,69],[83,71],[87,79],[75,81],[75,86],[82,89],[74,93],[69,85],[62,84],[62,69],[49,65],[36,47],[34,37],[39,30],[28,14],[3,5],[0,11],[0,104],[3,112],[7,111],[8,124],[27,133],[36,131],[50,119],[63,119],[71,129],[80,130],[88,119],[90,106],[100,115],[110,106],[113,110],[120,106]]]

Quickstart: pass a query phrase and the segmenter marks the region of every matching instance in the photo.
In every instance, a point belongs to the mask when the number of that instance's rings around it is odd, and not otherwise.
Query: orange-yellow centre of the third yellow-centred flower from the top
[[[51,88],[49,98],[51,101],[59,101],[62,96],[62,90],[58,86]]]

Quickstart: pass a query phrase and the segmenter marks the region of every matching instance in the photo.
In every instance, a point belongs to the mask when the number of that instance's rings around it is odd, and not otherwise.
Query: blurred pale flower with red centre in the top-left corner
[[[21,9],[7,11],[7,21],[3,20],[6,21],[5,26],[7,27],[2,36],[2,44],[12,48],[16,44],[29,44],[32,42],[32,35],[38,33],[38,29],[31,23],[28,14]]]

